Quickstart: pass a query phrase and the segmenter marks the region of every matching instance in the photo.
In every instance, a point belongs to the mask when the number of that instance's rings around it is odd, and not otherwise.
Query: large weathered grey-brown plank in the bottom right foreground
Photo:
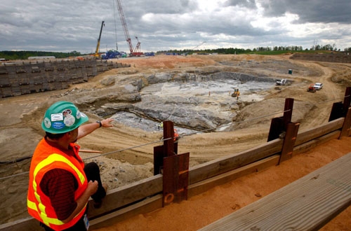
[[[204,228],[319,230],[351,204],[351,153]]]

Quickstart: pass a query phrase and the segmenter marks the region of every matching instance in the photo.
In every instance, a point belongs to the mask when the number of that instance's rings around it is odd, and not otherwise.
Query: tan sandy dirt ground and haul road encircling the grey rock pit
[[[295,99],[293,121],[300,121],[300,132],[326,123],[331,105],[333,102],[343,101],[345,87],[351,85],[350,64],[296,61],[289,59],[289,55],[188,55],[187,57],[160,55],[149,58],[119,59],[118,62],[131,64],[131,68],[107,71],[89,80],[88,83],[72,85],[69,90],[0,99],[3,112],[0,115],[0,161],[6,162],[32,155],[37,142],[44,134],[40,123],[47,107],[59,100],[74,101],[74,97],[78,95],[77,92],[81,90],[101,89],[104,86],[100,82],[106,76],[122,75],[137,78],[135,76],[140,74],[148,75],[162,71],[196,73],[199,69],[208,72],[218,69],[293,80],[291,85],[278,87],[279,89],[272,85],[272,89],[268,91],[269,94],[263,101],[253,102],[241,108],[239,116],[233,122],[273,114],[272,116],[252,120],[249,123],[243,123],[244,125],[240,123],[231,132],[182,137],[179,141],[178,153],[190,152],[191,166],[263,144],[267,141],[270,120],[274,116],[282,116],[286,98]],[[288,69],[293,69],[292,75],[288,74]],[[307,92],[307,86],[315,82],[324,83],[324,88],[314,94]],[[241,94],[241,98],[243,97],[245,94]],[[108,97],[106,101],[108,102]],[[89,108],[89,104],[84,105],[85,109]],[[88,116],[91,123],[100,119],[90,113]],[[113,128],[96,130],[88,137],[79,140],[79,145],[84,149],[102,151],[102,153],[119,151],[96,158],[94,158],[95,154],[81,153],[84,158],[99,162],[102,180],[108,183],[110,188],[116,188],[152,176],[153,147],[159,144],[140,145],[157,141],[159,137],[159,133],[144,132],[116,121]],[[128,149],[132,146],[139,147]],[[0,209],[4,211],[5,216],[1,217],[0,223],[27,216],[25,207],[27,174],[21,173],[28,171],[29,162],[30,160],[23,160],[15,164],[1,165],[0,177],[20,175],[1,179],[1,198],[5,200],[0,205]]]

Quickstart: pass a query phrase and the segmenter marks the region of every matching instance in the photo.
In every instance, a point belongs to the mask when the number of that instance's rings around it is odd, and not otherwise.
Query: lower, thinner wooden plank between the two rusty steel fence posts
[[[188,187],[188,196],[193,197],[195,195],[199,195],[200,193],[204,193],[213,187],[220,186],[229,181],[234,181],[235,179],[239,179],[242,176],[246,176],[254,172],[260,172],[267,167],[278,165],[279,158],[279,155],[273,155],[269,158],[265,158],[264,160],[254,162],[251,165],[246,165],[239,169],[226,172],[225,174],[220,174],[210,179],[194,183]]]

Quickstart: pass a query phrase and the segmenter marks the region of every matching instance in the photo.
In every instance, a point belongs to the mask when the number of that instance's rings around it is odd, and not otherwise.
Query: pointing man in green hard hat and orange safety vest
[[[88,117],[71,102],[51,105],[41,123],[46,135],[34,151],[29,169],[27,209],[45,230],[88,230],[89,197],[100,207],[106,195],[95,162],[84,165],[77,139],[113,119],[82,125]]]

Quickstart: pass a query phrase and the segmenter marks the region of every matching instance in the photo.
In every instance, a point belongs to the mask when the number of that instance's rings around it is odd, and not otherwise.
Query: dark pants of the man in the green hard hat
[[[100,178],[100,169],[98,165],[95,162],[90,162],[85,165],[84,167],[84,172],[86,174],[86,178],[89,181],[98,181],[98,191],[96,191],[95,194],[91,195],[91,198],[95,202],[101,202],[102,198],[106,196],[106,191],[105,188],[102,187],[101,183],[101,178]],[[88,210],[88,207],[87,207]],[[66,229],[65,231],[86,231],[86,226],[84,224],[84,216],[81,217],[81,219],[73,225],[71,228]],[[46,231],[53,231],[53,229],[49,228],[48,226],[44,225],[43,223],[40,223],[42,227]]]

